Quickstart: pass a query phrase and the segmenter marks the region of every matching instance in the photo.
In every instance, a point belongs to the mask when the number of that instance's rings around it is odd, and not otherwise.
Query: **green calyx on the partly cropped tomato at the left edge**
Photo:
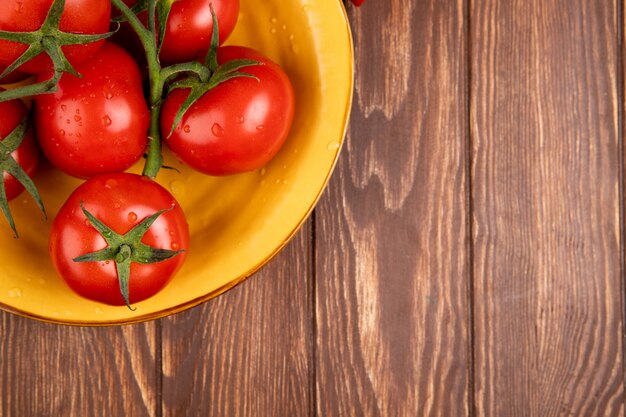
[[[7,172],[18,180],[20,184],[24,186],[24,189],[33,197],[35,203],[37,203],[37,206],[45,218],[46,210],[41,201],[41,197],[39,196],[39,192],[37,191],[37,187],[33,183],[33,180],[30,179],[28,174],[26,174],[22,167],[15,161],[15,158],[11,155],[22,144],[22,141],[26,136],[26,131],[28,130],[29,121],[30,114],[26,115],[20,124],[17,125],[7,137],[0,141],[0,173],[4,176],[4,173]],[[17,229],[15,227],[13,216],[11,215],[11,210],[9,209],[4,180],[0,181],[0,209],[2,209],[9,226],[13,230],[14,236],[17,238]]]

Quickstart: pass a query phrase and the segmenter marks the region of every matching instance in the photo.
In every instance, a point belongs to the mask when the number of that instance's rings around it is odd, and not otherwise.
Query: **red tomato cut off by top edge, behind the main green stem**
[[[136,0],[124,0],[124,3],[132,6]],[[224,43],[230,36],[239,17],[239,0],[176,1],[170,10],[159,55],[163,65],[194,61],[206,55],[213,33],[211,5],[218,21],[219,43]],[[140,13],[139,18],[144,24],[148,21],[146,12]],[[143,54],[143,48],[128,24],[122,25],[115,40],[131,53]]]

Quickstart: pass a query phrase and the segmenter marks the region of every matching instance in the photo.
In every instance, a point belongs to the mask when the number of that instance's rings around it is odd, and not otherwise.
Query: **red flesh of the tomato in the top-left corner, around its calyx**
[[[30,32],[39,29],[44,22],[53,0],[4,0],[0,7],[0,30]],[[110,0],[66,0],[61,15],[60,29],[64,32],[100,34],[109,29],[111,19]],[[91,57],[102,46],[102,41],[86,45],[67,45],[62,50],[68,61],[76,64]],[[0,66],[9,66],[27,45],[0,40]],[[20,70],[40,74],[52,70],[52,61],[40,54],[20,66]]]

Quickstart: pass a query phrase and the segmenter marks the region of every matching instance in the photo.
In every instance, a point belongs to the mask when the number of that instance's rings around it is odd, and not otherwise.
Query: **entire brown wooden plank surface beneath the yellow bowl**
[[[144,324],[0,313],[0,416],[624,416],[624,4],[368,0],[351,125],[253,278]]]

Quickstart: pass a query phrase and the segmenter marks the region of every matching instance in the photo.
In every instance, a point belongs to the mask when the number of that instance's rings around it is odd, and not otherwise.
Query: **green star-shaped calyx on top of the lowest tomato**
[[[154,248],[141,242],[141,239],[146,234],[150,226],[156,221],[156,219],[163,213],[171,210],[168,209],[157,211],[151,216],[146,217],[139,224],[133,227],[129,232],[121,235],[113,231],[110,227],[104,224],[101,220],[91,214],[82,202],[80,208],[87,217],[89,223],[96,229],[104,238],[107,243],[107,247],[96,252],[88,253],[78,256],[73,259],[74,262],[104,262],[114,261],[117,269],[117,276],[120,284],[120,292],[124,298],[126,306],[130,310],[135,308],[130,305],[129,296],[129,280],[130,280],[130,265],[132,262],[138,262],[140,264],[151,264],[156,262],[165,261],[170,259],[184,250],[170,250]]]

